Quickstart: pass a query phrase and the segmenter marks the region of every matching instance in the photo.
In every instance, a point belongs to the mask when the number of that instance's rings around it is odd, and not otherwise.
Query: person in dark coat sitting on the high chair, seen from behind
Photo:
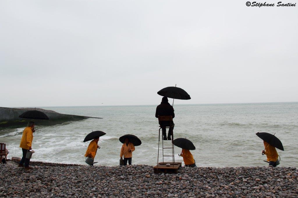
[[[158,118],[158,116],[172,116],[173,118],[175,117],[174,114],[174,109],[173,107],[170,105],[170,103],[168,103],[168,99],[167,97],[163,97],[162,98],[162,102],[160,103],[159,106],[156,107],[156,113],[155,113],[155,117]],[[160,121],[159,124],[162,127],[162,135],[163,135],[163,139],[164,140],[171,140],[171,135],[173,136],[173,129],[174,129],[174,122],[173,121]],[[166,126],[170,126],[173,125],[173,127],[169,128],[169,132],[168,132],[168,136],[166,133]]]

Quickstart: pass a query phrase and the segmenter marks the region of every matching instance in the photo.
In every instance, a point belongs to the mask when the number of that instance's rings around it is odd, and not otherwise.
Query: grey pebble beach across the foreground
[[[30,162],[31,163],[31,162]],[[0,165],[0,197],[298,197],[296,168],[82,166],[32,162]]]

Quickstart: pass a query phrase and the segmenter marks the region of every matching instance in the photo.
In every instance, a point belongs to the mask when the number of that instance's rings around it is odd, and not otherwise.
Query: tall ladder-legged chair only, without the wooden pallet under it
[[[169,124],[162,124],[161,121],[168,121]],[[173,125],[173,117],[172,116],[158,116],[158,122],[159,122],[159,135],[158,135],[158,154],[157,154],[157,166],[159,165],[158,164],[158,161],[159,161],[159,142],[160,142],[160,129],[162,128],[168,128],[170,130],[170,128],[173,128],[174,125]],[[172,141],[173,141],[173,138],[174,138],[174,134],[173,134],[173,129],[172,129]],[[174,163],[175,163],[175,156],[174,156],[174,144],[172,143],[171,141],[171,144],[172,144],[172,147],[164,147],[164,140],[162,138],[162,163],[164,163],[164,157],[172,157],[173,159],[173,166],[174,166]],[[164,149],[172,149],[172,155],[164,155]]]

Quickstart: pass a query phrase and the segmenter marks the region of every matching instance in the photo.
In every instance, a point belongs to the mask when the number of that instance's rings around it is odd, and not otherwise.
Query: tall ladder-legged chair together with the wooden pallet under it
[[[174,155],[174,144],[172,141],[167,141],[165,143],[166,145],[169,146],[164,147],[164,140],[162,138],[162,162],[159,162],[159,143],[160,143],[160,129],[162,128],[173,128],[173,117],[172,116],[158,116],[158,121],[159,121],[159,133],[158,133],[158,154],[157,154],[157,166],[154,166],[154,172],[155,173],[178,173],[178,169],[181,167],[181,162],[175,162],[175,155]],[[167,125],[162,125],[161,121],[168,121],[169,124]],[[172,140],[174,138],[173,130],[172,130]],[[164,149],[171,149],[172,150],[172,155],[166,154],[164,155]],[[165,162],[164,157],[172,157],[171,162]],[[170,164],[170,166],[166,166],[166,164]]]

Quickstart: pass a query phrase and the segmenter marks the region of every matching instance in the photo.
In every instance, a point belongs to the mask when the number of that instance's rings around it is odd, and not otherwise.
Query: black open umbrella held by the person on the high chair
[[[173,98],[173,105],[174,105],[174,99],[179,99],[179,100],[189,100],[190,95],[184,91],[184,89],[181,89],[179,87],[165,87],[159,92],[157,92],[158,95],[165,96],[168,98]]]

